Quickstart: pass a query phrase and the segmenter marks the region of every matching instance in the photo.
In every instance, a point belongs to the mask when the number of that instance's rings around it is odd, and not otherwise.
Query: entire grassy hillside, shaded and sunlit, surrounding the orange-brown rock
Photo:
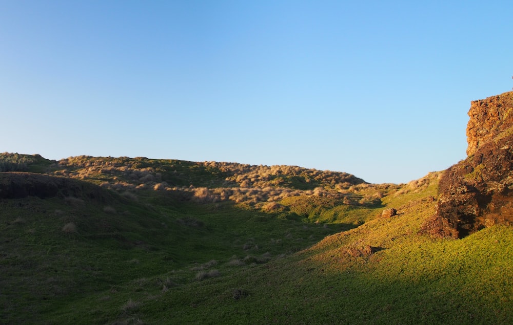
[[[36,158],[81,190],[0,200],[5,323],[513,322],[510,227],[422,232],[439,173]]]

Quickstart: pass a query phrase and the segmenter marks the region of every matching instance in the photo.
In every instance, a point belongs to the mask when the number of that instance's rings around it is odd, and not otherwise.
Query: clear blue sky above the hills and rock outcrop
[[[0,0],[0,151],[405,183],[513,86],[512,1]]]

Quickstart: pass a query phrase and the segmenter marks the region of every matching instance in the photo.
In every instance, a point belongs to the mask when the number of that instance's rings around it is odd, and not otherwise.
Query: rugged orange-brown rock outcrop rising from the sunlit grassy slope
[[[442,237],[513,224],[513,92],[473,101],[468,115],[468,157],[444,172],[424,228]]]

